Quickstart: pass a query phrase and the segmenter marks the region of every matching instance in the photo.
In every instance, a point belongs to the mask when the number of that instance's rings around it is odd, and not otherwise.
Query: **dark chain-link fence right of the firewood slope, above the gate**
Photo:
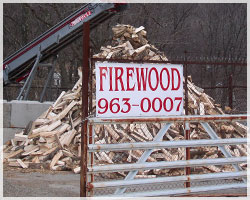
[[[227,114],[247,112],[247,65],[245,60],[230,58],[187,58],[192,82],[214,99]]]

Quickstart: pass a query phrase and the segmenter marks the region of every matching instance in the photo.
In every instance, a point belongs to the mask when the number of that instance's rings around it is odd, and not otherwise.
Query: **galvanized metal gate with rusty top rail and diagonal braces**
[[[208,192],[208,191],[219,191],[233,188],[246,188],[246,171],[242,171],[242,168],[238,166],[239,163],[246,163],[247,157],[232,157],[227,152],[224,145],[237,145],[246,144],[247,138],[228,138],[220,139],[214,130],[209,126],[208,122],[221,122],[221,121],[246,121],[247,115],[198,115],[198,116],[169,116],[169,117],[158,117],[158,118],[89,118],[88,126],[91,127],[91,138],[92,141],[88,143],[88,156],[91,161],[87,166],[87,174],[92,177],[87,180],[87,189],[91,191],[93,196],[93,190],[96,188],[116,188],[115,192],[111,196],[173,196],[173,195],[189,195]],[[119,143],[119,144],[93,144],[94,129],[93,127],[97,124],[119,124],[119,123],[152,123],[161,122],[166,123],[164,127],[157,133],[156,137],[151,142],[136,142],[136,143]],[[163,136],[167,132],[168,128],[174,122],[186,123],[188,128],[189,123],[198,122],[200,123],[208,135],[211,137],[210,140],[182,140],[182,141],[162,141]],[[88,129],[90,130],[90,128]],[[90,133],[89,133],[90,134]],[[153,149],[160,148],[187,148],[187,147],[200,147],[200,146],[218,146],[224,154],[225,158],[215,159],[191,159],[191,160],[178,160],[178,161],[161,161],[161,162],[146,162],[147,158],[153,152]],[[133,164],[109,164],[109,165],[94,165],[94,152],[102,151],[128,151],[142,149],[145,152],[142,154],[137,163]],[[92,156],[91,156],[92,155]],[[158,178],[147,178],[147,179],[134,179],[138,170],[147,169],[161,169],[161,168],[185,168],[194,166],[206,166],[206,165],[226,165],[232,164],[235,168],[235,172],[222,172],[222,173],[208,173],[208,174],[192,174],[174,177],[158,177]],[[124,180],[112,180],[112,181],[94,181],[95,173],[106,173],[106,172],[118,172],[118,171],[129,171],[128,175]],[[184,182],[185,185],[191,181],[204,181],[204,180],[217,180],[217,179],[234,179],[240,178],[243,180],[241,183],[225,184],[225,185],[211,185],[211,186],[199,186],[199,187],[187,187],[185,189],[171,189],[171,190],[155,190],[155,191],[143,191],[125,193],[128,186],[133,185],[144,185],[144,184],[157,184],[157,183],[169,183],[169,182]],[[109,195],[110,196],[110,195]]]

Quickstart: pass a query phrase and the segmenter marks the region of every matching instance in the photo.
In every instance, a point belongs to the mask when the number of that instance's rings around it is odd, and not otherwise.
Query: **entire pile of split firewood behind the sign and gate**
[[[101,47],[95,58],[116,58],[131,60],[164,60],[167,58],[156,47],[150,45],[144,27],[117,25],[112,28],[114,37],[112,46]],[[17,133],[13,139],[4,144],[4,162],[9,166],[21,168],[45,168],[51,170],[72,170],[80,172],[81,139],[81,88],[82,73],[78,69],[79,80],[68,92],[62,92],[50,108],[25,130]],[[93,104],[94,104],[93,100]],[[189,113],[196,115],[225,114],[214,99],[188,78]],[[94,106],[95,107],[95,106]],[[94,109],[93,107],[93,109]],[[230,112],[230,108],[226,109]],[[163,124],[117,124],[96,125],[95,143],[125,143],[152,141]],[[221,138],[246,137],[247,127],[238,122],[211,123]],[[198,123],[190,124],[191,139],[210,139]],[[163,140],[184,140],[184,128],[181,123],[174,123]],[[246,145],[225,146],[232,156],[246,156]],[[96,152],[96,164],[116,164],[136,162],[143,154],[142,150],[129,152]],[[191,149],[192,159],[223,157],[218,147],[200,147]],[[185,159],[185,149],[155,149],[148,162],[174,161]],[[241,164],[246,168],[246,164]],[[231,166],[206,166],[195,168],[197,172],[232,171]],[[155,177],[157,175],[181,175],[183,169],[161,169],[139,172],[137,177]],[[119,173],[118,175],[125,175]]]

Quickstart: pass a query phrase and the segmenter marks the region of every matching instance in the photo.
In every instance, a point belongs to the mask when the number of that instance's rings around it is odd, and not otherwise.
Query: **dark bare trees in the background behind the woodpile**
[[[4,58],[48,30],[82,4],[4,4]],[[14,12],[13,12],[14,11]],[[187,50],[199,57],[246,57],[246,4],[130,4],[129,8],[97,24],[91,30],[91,48],[98,53],[111,43],[111,27],[117,23],[144,26],[148,40],[167,57],[183,56]],[[59,52],[56,71],[61,86],[70,88],[77,80],[77,67],[82,63],[81,37]],[[198,71],[199,69],[196,69]],[[227,85],[227,77],[246,81],[242,68],[207,67],[203,82]],[[191,69],[190,72],[196,72]],[[208,74],[210,74],[208,76]],[[41,78],[42,79],[42,78]],[[42,85],[42,81],[39,82]],[[226,92],[226,91],[225,91]],[[225,102],[225,94],[222,101]],[[13,97],[15,98],[15,97]]]

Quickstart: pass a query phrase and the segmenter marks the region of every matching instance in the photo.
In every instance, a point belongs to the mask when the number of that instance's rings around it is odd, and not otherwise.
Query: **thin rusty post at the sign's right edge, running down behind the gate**
[[[185,77],[185,85],[184,85],[184,89],[185,89],[185,115],[188,115],[188,88],[187,88],[187,82],[188,82],[188,72],[187,72],[187,51],[184,52],[185,53],[185,64],[184,64],[184,77]],[[185,123],[184,125],[185,127],[185,139],[189,140],[190,139],[190,128],[189,128],[189,124]],[[186,160],[190,160],[190,147],[186,147]],[[186,175],[190,175],[191,173],[191,169],[190,167],[186,167],[185,168],[185,172]],[[187,181],[185,182],[185,187],[190,187],[190,182]]]

